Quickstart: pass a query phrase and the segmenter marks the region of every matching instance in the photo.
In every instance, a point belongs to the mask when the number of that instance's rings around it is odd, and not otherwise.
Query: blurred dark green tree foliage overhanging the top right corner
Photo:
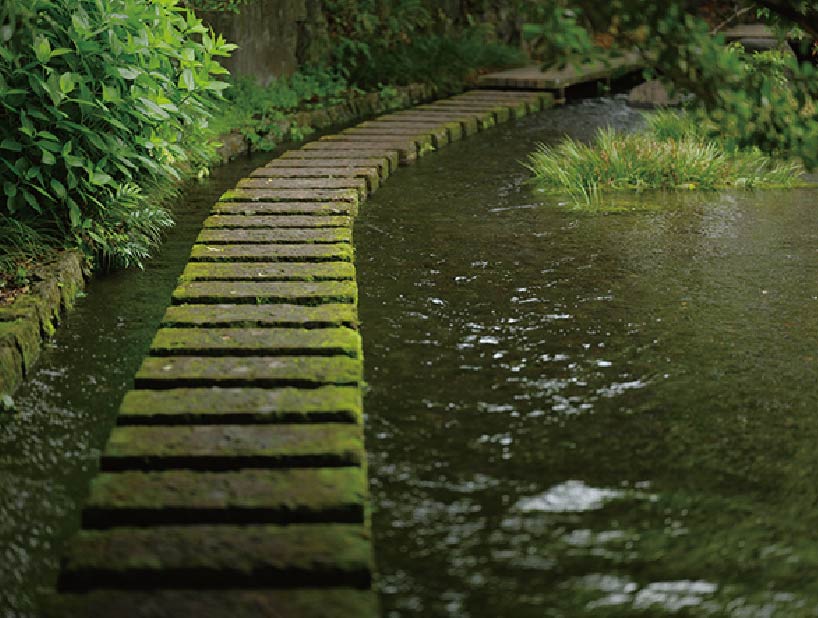
[[[818,73],[794,55],[756,56],[727,46],[706,19],[703,3],[693,0],[612,0],[539,2],[529,35],[540,36],[545,57],[576,62],[601,58],[600,40],[614,50],[639,49],[660,76],[696,95],[698,113],[738,146],[801,158],[818,165]],[[742,3],[784,32],[818,38],[818,2]]]

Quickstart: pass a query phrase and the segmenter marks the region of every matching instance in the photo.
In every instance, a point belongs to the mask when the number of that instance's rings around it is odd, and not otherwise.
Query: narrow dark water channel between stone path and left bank
[[[0,617],[35,618],[38,593],[53,589],[60,546],[204,217],[270,158],[239,159],[186,191],[144,271],[95,278],[15,393],[18,413],[0,417]]]

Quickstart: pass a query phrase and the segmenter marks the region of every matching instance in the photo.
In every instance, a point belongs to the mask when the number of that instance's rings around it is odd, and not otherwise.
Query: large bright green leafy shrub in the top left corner
[[[141,264],[167,212],[144,189],[212,156],[233,46],[176,0],[0,7],[0,216],[115,265]]]

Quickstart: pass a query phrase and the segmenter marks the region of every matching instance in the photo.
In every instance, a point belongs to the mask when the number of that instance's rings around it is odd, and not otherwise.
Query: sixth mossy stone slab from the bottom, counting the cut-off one
[[[346,356],[180,356],[148,357],[136,373],[138,388],[202,386],[277,388],[360,383],[359,360]]]

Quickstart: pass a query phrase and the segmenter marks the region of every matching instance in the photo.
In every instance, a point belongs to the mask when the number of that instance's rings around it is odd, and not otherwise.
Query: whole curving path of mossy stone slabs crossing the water
[[[222,196],[122,403],[45,616],[377,616],[353,219],[398,165],[552,102],[472,91],[395,112]]]

